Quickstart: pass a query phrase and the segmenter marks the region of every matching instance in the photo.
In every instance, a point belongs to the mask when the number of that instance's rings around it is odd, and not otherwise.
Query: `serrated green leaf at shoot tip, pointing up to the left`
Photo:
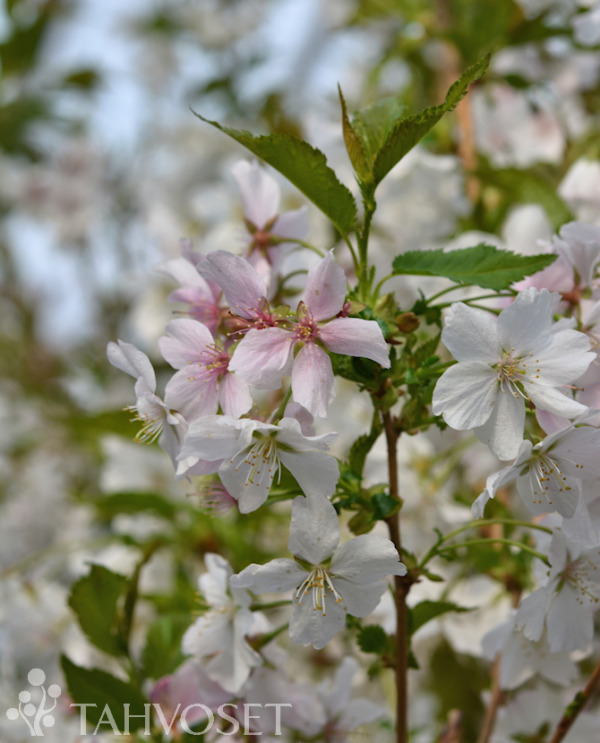
[[[288,134],[255,136],[247,131],[221,126],[199,114],[196,116],[229,135],[278,170],[329,217],[342,234],[352,230],[356,220],[354,197],[338,181],[320,150]]]

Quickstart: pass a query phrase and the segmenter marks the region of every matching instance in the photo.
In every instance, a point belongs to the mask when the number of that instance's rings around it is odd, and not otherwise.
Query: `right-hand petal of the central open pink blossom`
[[[320,328],[320,338],[334,353],[364,356],[386,369],[390,366],[387,343],[381,328],[374,320],[337,317]]]

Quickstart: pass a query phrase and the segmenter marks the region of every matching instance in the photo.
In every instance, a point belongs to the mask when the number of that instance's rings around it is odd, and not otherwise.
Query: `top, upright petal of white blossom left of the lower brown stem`
[[[294,498],[288,541],[292,555],[320,565],[331,557],[339,540],[338,515],[327,498]]]

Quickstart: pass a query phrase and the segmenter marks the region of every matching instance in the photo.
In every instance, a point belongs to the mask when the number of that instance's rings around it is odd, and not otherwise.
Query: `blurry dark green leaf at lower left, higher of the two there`
[[[92,565],[90,572],[71,589],[69,606],[88,640],[109,655],[125,651],[118,633],[117,602],[127,578],[102,565]]]

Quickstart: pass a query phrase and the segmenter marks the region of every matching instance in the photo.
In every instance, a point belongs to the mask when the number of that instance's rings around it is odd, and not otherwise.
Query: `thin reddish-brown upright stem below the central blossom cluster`
[[[388,452],[388,476],[390,495],[402,503],[398,486],[398,438],[394,421],[389,411],[382,413],[383,428]],[[400,522],[398,514],[386,519],[390,540],[402,554]],[[411,581],[406,576],[394,576],[394,600],[396,604],[396,743],[408,741],[408,615],[406,595]]]

